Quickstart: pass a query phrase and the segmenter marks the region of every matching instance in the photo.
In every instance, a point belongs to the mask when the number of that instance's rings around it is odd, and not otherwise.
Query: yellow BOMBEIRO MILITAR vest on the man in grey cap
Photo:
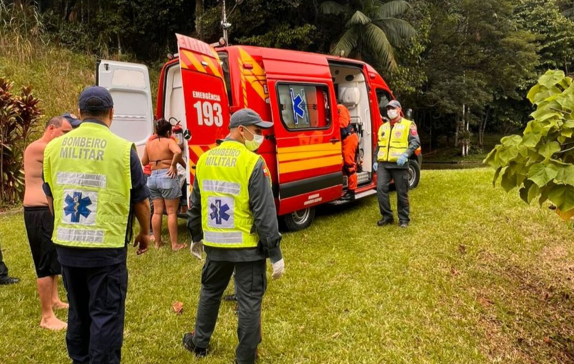
[[[249,208],[249,178],[260,155],[239,142],[226,141],[197,161],[203,244],[217,248],[254,248],[254,217]],[[254,229],[253,229],[254,230]]]

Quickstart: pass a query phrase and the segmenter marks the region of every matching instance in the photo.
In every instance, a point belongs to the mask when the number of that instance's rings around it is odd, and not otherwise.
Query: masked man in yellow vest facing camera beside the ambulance
[[[401,116],[401,104],[392,100],[386,105],[389,122],[383,123],[378,132],[373,170],[377,171],[377,197],[382,219],[379,226],[393,224],[393,210],[389,201],[389,187],[394,180],[397,189],[399,226],[409,226],[409,158],[421,146],[417,126]]]

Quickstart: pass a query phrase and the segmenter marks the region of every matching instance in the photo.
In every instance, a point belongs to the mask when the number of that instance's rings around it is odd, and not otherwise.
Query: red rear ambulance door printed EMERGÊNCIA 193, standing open
[[[176,34],[183,83],[185,119],[191,134],[189,146],[189,188],[195,165],[216,140],[229,134],[229,102],[219,56],[205,42]],[[191,196],[191,193],[188,194]],[[188,201],[189,203],[189,201]]]

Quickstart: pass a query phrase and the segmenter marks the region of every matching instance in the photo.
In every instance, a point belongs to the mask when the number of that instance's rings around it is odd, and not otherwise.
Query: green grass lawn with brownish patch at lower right
[[[259,362],[572,363],[572,226],[493,189],[491,178],[487,169],[423,171],[406,230],[378,228],[371,197],[284,234],[286,274],[263,300]],[[0,287],[0,362],[68,362],[64,332],[38,327],[22,213],[0,216],[0,231],[11,275],[22,279]],[[183,221],[180,233],[187,240]],[[140,257],[130,249],[128,265],[123,363],[232,363],[233,304],[222,303],[208,358],[181,346],[201,263],[162,248]]]

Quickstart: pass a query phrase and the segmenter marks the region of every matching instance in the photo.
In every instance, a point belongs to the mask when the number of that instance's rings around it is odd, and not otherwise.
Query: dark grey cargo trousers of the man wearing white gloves
[[[239,364],[255,362],[257,346],[261,342],[261,302],[267,288],[265,260],[231,262],[214,261],[209,257],[201,272],[201,293],[193,343],[207,347],[215,329],[223,292],[235,269],[239,345],[235,357]]]

